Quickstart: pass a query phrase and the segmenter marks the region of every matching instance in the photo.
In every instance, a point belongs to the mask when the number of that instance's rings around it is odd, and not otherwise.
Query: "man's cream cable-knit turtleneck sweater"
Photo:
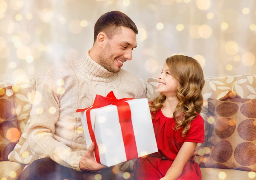
[[[125,70],[112,73],[93,61],[88,52],[84,58],[55,66],[42,76],[27,130],[32,151],[77,171],[87,146],[76,109],[91,106],[96,94],[106,96],[110,91],[118,99],[145,98],[135,75]]]

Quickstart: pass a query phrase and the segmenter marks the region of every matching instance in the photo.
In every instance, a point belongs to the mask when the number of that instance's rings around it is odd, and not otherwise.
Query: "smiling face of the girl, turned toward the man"
[[[158,76],[158,92],[166,97],[174,97],[176,95],[178,81],[172,77],[167,64],[163,65],[161,74]]]

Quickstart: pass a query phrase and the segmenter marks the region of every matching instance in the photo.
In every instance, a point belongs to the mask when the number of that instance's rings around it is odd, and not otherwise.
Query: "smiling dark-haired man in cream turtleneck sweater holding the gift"
[[[38,83],[41,103],[33,105],[27,139],[35,160],[20,180],[122,179],[122,173],[97,163],[95,145],[86,146],[76,109],[91,106],[96,94],[113,91],[118,99],[144,98],[140,80],[121,69],[137,47],[135,23],[120,11],[103,14],[94,26],[94,43],[80,60],[49,69]],[[37,113],[38,108],[43,113]],[[99,172],[100,170],[100,172]],[[99,175],[100,174],[100,175]]]

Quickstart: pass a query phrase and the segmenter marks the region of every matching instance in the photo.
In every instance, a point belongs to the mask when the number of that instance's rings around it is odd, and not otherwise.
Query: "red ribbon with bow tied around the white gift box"
[[[86,111],[87,125],[90,133],[90,137],[93,143],[95,143],[95,159],[98,163],[100,163],[99,159],[99,147],[96,142],[95,135],[93,133],[93,128],[90,120],[90,111],[92,109],[101,108],[104,106],[108,106],[110,104],[115,105],[117,107],[118,115],[119,115],[119,123],[122,131],[122,138],[125,145],[125,154],[127,160],[132,160],[138,158],[138,151],[134,136],[134,130],[131,122],[131,109],[127,102],[127,100],[133,100],[134,98],[123,98],[116,99],[113,91],[108,93],[106,97],[101,95],[96,95],[93,105],[85,108],[85,109],[77,109],[76,112]]]

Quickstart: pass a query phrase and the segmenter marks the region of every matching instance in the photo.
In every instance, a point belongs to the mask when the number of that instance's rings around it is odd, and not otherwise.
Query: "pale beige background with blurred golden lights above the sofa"
[[[172,54],[194,57],[205,76],[256,73],[255,0],[0,0],[0,80],[83,57],[96,20],[113,10],[139,29],[123,68],[140,79],[156,77]]]

